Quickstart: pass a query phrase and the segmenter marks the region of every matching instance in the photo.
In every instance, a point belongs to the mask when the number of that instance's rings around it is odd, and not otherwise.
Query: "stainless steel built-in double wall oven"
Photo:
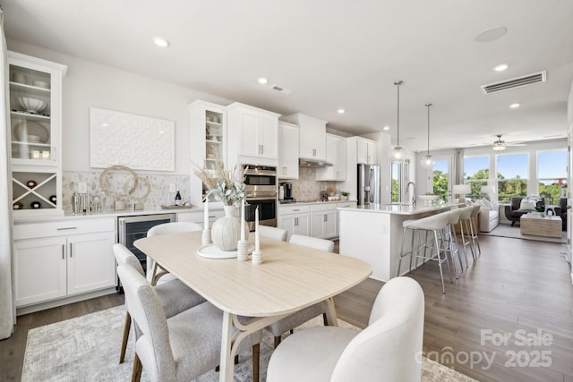
[[[277,226],[277,167],[244,165],[245,220],[254,230],[256,208],[261,225]]]

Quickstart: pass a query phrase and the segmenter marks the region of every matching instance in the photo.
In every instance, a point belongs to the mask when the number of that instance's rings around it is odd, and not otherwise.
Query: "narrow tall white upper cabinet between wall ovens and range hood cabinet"
[[[278,122],[278,167],[279,179],[298,179],[298,126]]]

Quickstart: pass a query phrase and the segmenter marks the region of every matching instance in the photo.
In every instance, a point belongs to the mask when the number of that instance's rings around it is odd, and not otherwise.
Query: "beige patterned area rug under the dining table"
[[[123,306],[118,306],[31,329],[28,332],[21,380],[24,382],[129,381],[132,373],[133,338],[130,338],[125,362],[121,365],[117,363],[124,329],[124,311]],[[316,318],[301,328],[320,324],[321,318]],[[341,320],[339,325],[353,327]],[[360,330],[357,327],[353,328]],[[261,344],[261,381],[266,379],[272,344],[272,336],[266,333]],[[250,352],[240,355],[240,362],[235,365],[235,381],[252,380],[250,357]],[[145,370],[141,380],[149,380]],[[454,382],[475,379],[424,358],[422,380]],[[218,372],[212,370],[195,381],[216,382]]]

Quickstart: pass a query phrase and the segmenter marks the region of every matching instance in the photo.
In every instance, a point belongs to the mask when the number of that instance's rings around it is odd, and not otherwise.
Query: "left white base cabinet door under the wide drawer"
[[[65,296],[64,237],[15,242],[14,250],[17,307]]]

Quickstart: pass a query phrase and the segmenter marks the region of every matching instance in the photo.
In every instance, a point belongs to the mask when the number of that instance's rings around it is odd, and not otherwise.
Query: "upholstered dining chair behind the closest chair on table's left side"
[[[133,252],[128,250],[123,244],[118,243],[114,245],[114,254],[115,261],[118,266],[128,265],[133,267],[133,269],[135,269],[141,276],[145,276],[139,259],[137,259]],[[199,293],[196,293],[190,287],[177,279],[167,283],[158,284],[155,286],[155,290],[167,318],[175,316],[184,310],[188,310],[195,305],[205,302],[205,299]],[[127,348],[127,341],[129,339],[129,331],[131,327],[132,318],[129,314],[129,310],[127,310],[125,313],[124,337],[122,340],[122,350],[119,355],[119,363],[124,363],[125,349]]]

